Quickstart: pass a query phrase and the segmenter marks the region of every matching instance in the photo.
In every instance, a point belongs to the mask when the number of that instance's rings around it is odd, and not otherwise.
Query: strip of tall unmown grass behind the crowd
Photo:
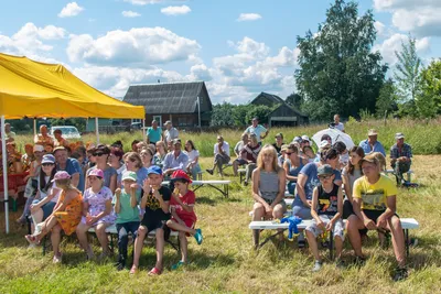
[[[327,128],[325,124],[314,124],[299,128],[273,128],[270,130],[269,135],[263,140],[265,143],[273,143],[275,135],[282,132],[284,142],[291,142],[295,135],[308,134],[310,138],[318,131]],[[428,121],[418,121],[402,119],[399,121],[387,120],[372,120],[364,122],[348,122],[345,126],[346,132],[351,134],[355,144],[367,138],[368,129],[377,129],[379,132],[378,141],[383,143],[386,151],[395,144],[395,133],[404,132],[406,142],[412,145],[415,154],[441,154],[441,118]],[[244,128],[245,130],[245,128]],[[180,130],[182,140],[193,140],[196,149],[201,152],[202,156],[212,156],[213,144],[216,142],[216,135],[223,134],[224,139],[229,143],[232,152],[237,141],[240,140],[240,134],[244,130],[229,130],[223,129],[218,132],[204,132],[192,133]],[[100,141],[110,144],[117,140],[125,142],[126,151],[130,149],[130,142],[135,139],[142,140],[142,133],[116,133],[116,134],[101,134]],[[19,148],[23,149],[24,143],[30,142],[32,137],[18,135],[17,142]],[[84,142],[96,142],[95,134],[86,134],[83,137]],[[232,153],[233,154],[233,153]]]

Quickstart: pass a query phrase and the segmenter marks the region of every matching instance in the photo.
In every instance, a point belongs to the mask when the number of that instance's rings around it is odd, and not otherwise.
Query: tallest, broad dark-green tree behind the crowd
[[[336,0],[316,34],[298,36],[295,81],[312,120],[330,120],[334,113],[357,117],[361,109],[375,112],[388,67],[379,52],[372,52],[374,22],[372,11],[358,15],[357,3]]]

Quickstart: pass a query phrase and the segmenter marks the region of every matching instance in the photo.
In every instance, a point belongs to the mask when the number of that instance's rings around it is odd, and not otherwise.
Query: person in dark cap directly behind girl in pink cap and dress
[[[104,173],[104,186],[108,187],[111,193],[115,193],[115,189],[117,188],[118,173],[108,164],[110,149],[104,144],[99,144],[95,149],[94,156],[96,157],[96,165],[86,172],[86,189],[90,187],[90,183],[88,181],[90,172],[94,170],[100,170]]]

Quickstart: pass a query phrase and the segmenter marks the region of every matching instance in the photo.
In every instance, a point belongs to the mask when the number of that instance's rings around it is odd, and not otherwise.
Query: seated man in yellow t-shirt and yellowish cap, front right
[[[380,174],[378,160],[366,155],[362,161],[364,176],[356,179],[353,189],[354,215],[347,219],[347,236],[359,262],[364,261],[359,230],[390,231],[395,258],[398,262],[394,280],[407,277],[405,235],[397,210],[397,187]]]

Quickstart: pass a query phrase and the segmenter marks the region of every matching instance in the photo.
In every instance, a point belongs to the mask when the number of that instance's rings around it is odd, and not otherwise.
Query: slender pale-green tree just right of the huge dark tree
[[[412,101],[418,95],[421,77],[421,59],[417,54],[416,40],[409,34],[407,43],[401,42],[401,52],[395,52],[398,62],[394,78],[402,102]]]

